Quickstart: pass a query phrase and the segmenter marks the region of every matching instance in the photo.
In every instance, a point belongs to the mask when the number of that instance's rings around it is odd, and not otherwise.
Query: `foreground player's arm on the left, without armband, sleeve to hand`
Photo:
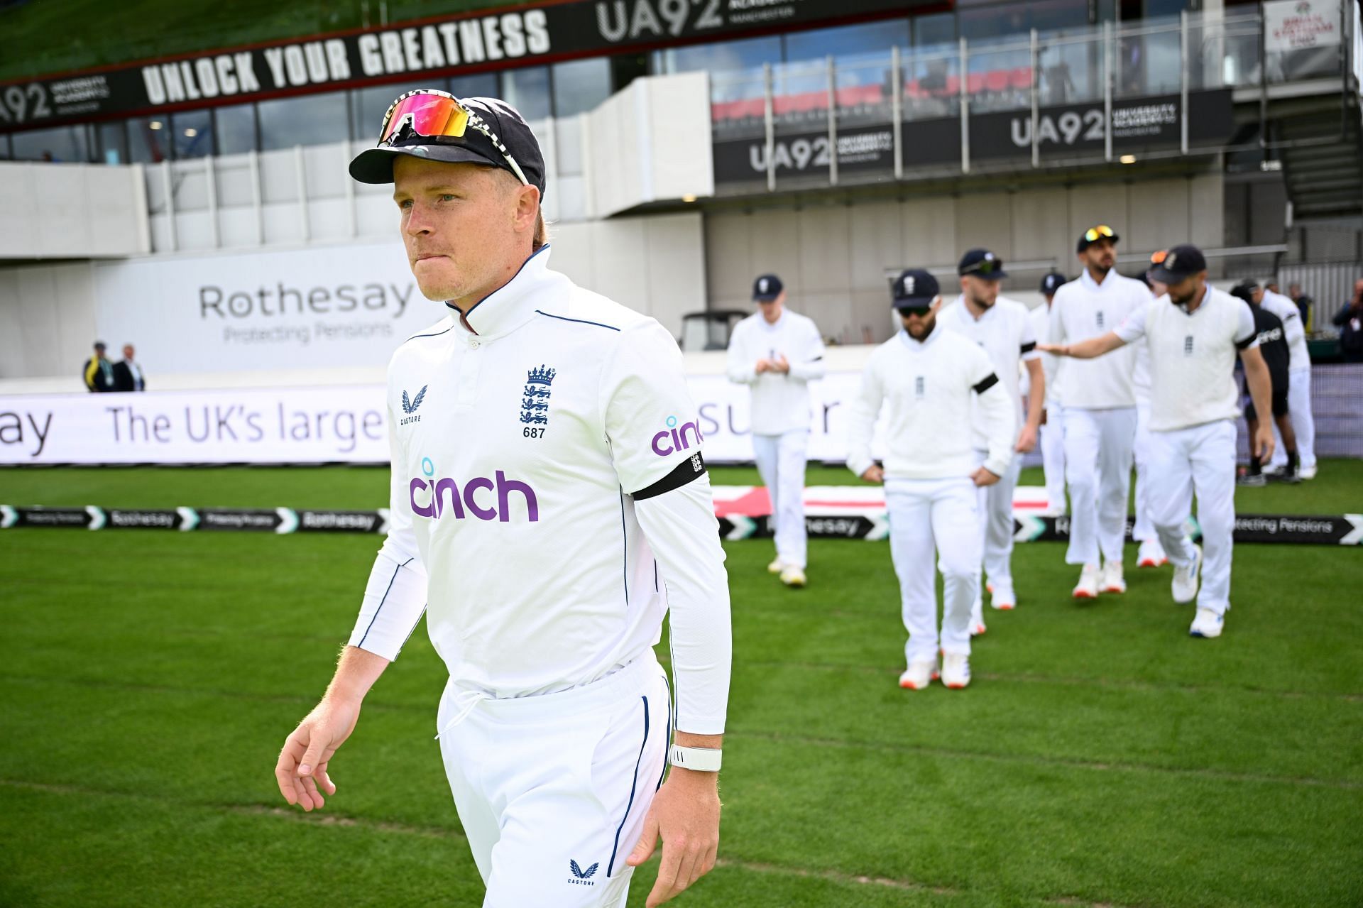
[[[373,559],[360,615],[341,652],[335,675],[322,701],[285,739],[274,777],[279,793],[307,811],[326,803],[322,792],[334,795],[331,755],[354,731],[360,705],[425,611],[427,574],[412,534],[406,474],[388,413],[388,534]]]

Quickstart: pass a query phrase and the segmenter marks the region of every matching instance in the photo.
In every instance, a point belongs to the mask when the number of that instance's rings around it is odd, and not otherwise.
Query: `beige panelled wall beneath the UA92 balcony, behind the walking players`
[[[707,213],[710,308],[750,308],[754,277],[771,271],[785,281],[792,308],[825,335],[879,341],[893,330],[887,271],[928,267],[946,292],[955,286],[960,255],[987,247],[1006,267],[1037,263],[1011,267],[1005,282],[1005,292],[1025,299],[1050,266],[1078,273],[1074,243],[1096,224],[1116,230],[1123,255],[1187,241],[1221,247],[1221,176]]]

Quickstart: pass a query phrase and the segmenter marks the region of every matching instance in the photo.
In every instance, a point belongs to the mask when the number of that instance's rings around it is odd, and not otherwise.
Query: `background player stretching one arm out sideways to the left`
[[[1206,259],[1194,245],[1171,248],[1152,277],[1167,293],[1137,309],[1107,334],[1052,348],[1079,359],[1112,356],[1129,344],[1150,352],[1150,496],[1154,526],[1174,562],[1176,603],[1197,597],[1193,637],[1220,637],[1231,608],[1231,549],[1235,530],[1235,434],[1240,394],[1235,356],[1244,363],[1250,395],[1269,413],[1268,365],[1258,350],[1250,308],[1206,282]],[[1268,420],[1251,439],[1261,457],[1273,450]],[[1197,494],[1202,545],[1183,529]],[[1205,552],[1205,560],[1204,560]],[[1198,573],[1201,569],[1201,590]]]

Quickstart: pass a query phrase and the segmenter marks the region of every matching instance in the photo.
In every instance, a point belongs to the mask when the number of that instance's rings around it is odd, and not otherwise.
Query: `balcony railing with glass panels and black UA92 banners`
[[[902,179],[909,166],[949,175],[1283,147],[1296,143],[1274,143],[1265,127],[1270,95],[1288,85],[1338,94],[1343,135],[1363,49],[1355,4],[1340,8],[1340,44],[1307,50],[1266,49],[1261,11],[1184,12],[711,74],[716,180],[774,191]],[[1231,97],[1254,91],[1259,132],[1231,145]],[[1204,116],[1214,93],[1223,135]]]

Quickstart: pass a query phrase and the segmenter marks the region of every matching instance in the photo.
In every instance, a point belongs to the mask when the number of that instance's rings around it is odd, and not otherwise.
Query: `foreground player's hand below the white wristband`
[[[647,860],[662,836],[662,863],[647,908],[682,894],[687,886],[714,870],[720,851],[718,773],[673,768],[653,798],[643,818],[643,834],[624,862],[638,867]]]

